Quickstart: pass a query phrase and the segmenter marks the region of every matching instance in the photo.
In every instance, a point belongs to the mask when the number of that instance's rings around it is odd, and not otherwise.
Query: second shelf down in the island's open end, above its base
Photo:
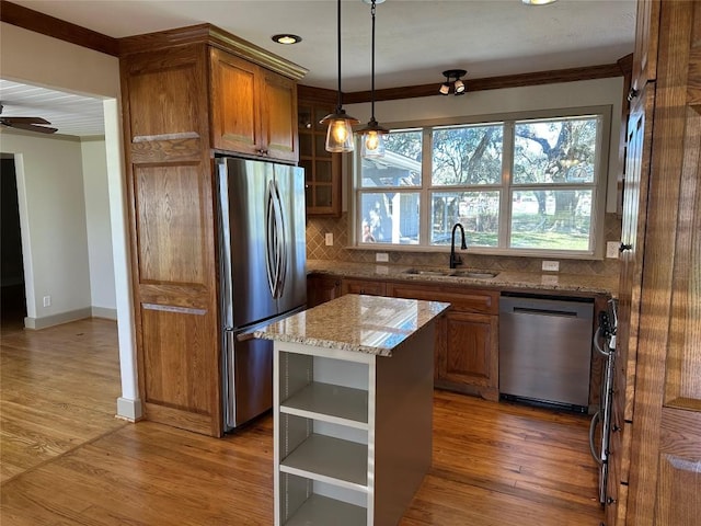
[[[312,434],[280,462],[280,471],[367,492],[368,446]]]

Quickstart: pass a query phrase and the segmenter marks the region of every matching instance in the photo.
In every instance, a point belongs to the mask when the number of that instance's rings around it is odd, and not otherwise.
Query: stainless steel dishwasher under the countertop
[[[594,300],[503,294],[502,398],[587,412]]]

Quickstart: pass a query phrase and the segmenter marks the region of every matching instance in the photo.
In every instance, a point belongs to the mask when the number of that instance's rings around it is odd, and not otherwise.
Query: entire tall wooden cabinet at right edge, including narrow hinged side
[[[606,525],[701,516],[701,1],[641,0]]]

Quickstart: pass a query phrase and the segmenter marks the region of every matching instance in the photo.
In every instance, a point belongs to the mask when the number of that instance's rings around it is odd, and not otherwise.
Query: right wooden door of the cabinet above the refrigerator
[[[263,155],[297,162],[297,82],[266,69],[260,71]]]

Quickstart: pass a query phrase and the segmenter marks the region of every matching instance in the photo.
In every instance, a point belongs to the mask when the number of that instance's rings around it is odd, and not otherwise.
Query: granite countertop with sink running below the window
[[[433,267],[411,267],[406,265],[377,263],[347,263],[342,261],[311,260],[307,262],[308,274],[327,274],[347,278],[368,278],[381,281],[411,281],[433,285],[470,285],[497,290],[559,291],[576,294],[604,294],[618,296],[618,276],[598,276],[593,274],[533,273],[518,271],[495,271],[491,278],[471,278],[462,276],[440,276],[407,274],[411,268],[437,270]],[[439,268],[448,271],[447,267]],[[459,271],[466,268],[460,267]],[[470,270],[470,268],[467,268]]]

